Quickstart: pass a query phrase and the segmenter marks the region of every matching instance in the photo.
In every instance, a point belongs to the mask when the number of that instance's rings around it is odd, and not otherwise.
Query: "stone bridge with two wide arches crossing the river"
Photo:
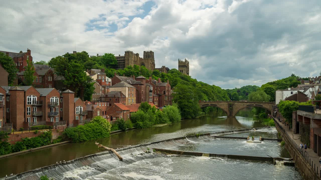
[[[250,102],[250,101],[199,101],[201,108],[205,107],[218,107],[225,111],[227,117],[235,117],[235,114],[240,110],[248,107],[264,108],[272,112],[275,102]]]

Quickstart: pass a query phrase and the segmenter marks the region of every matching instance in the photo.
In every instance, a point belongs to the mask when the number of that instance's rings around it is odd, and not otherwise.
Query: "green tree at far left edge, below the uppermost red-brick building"
[[[12,86],[13,81],[17,78],[17,65],[10,56],[5,55],[4,53],[0,53],[0,63],[2,67],[9,73],[8,84],[9,86]]]

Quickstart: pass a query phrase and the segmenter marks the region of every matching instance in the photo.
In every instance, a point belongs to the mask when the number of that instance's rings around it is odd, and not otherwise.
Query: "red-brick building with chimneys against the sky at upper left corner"
[[[6,54],[7,56],[10,56],[13,61],[17,65],[17,69],[19,72],[25,70],[24,67],[27,66],[27,61],[32,62],[32,56],[31,56],[31,50],[27,49],[27,52],[23,53],[20,51],[19,53],[13,53],[13,52],[7,52],[7,51],[0,51],[1,53]]]

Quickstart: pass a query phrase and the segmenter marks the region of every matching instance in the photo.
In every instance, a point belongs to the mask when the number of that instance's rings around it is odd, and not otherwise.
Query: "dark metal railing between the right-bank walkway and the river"
[[[303,159],[309,164],[309,166],[311,166],[312,169],[314,169],[314,171],[317,173],[317,175],[320,175],[320,178],[321,178],[321,168],[319,169],[320,163],[313,162],[313,160],[311,161],[311,158],[309,158],[307,153],[305,151],[303,151],[303,148],[301,148],[299,144],[294,142],[294,140],[290,137],[288,132],[286,132],[285,129],[279,124],[279,122],[277,122],[274,118],[273,118],[273,120],[274,120],[275,125],[277,125],[283,131],[283,133],[285,134],[285,137],[288,139],[288,141],[291,143],[291,145],[293,147],[295,147],[295,149],[301,154]],[[317,167],[317,169],[316,169],[316,167]]]

